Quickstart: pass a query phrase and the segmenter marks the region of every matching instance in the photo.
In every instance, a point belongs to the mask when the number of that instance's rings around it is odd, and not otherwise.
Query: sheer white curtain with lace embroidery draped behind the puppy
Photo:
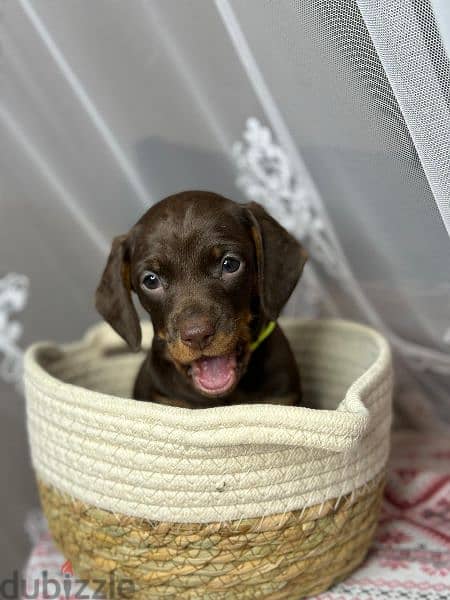
[[[382,329],[399,421],[449,427],[445,3],[9,0],[0,19],[8,573],[36,504],[21,351],[97,319],[111,237],[181,189],[266,203],[312,257],[289,311]]]

